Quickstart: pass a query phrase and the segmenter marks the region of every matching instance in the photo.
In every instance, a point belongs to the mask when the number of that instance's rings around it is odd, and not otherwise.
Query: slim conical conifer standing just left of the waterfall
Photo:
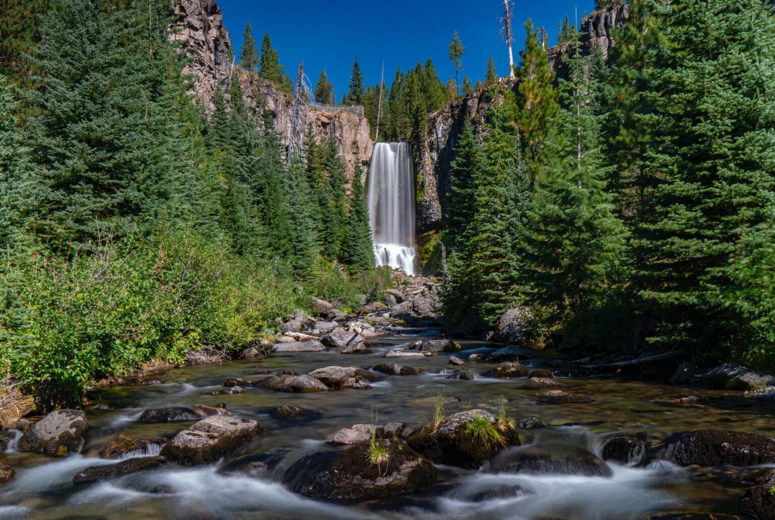
[[[362,177],[360,172],[353,177],[342,240],[342,261],[356,272],[374,269],[374,245]]]

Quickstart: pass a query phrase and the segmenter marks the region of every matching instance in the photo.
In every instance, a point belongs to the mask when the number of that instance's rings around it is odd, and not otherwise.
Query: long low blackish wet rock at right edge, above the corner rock
[[[775,463],[775,440],[757,433],[697,430],[665,440],[668,455],[681,466],[754,466]]]

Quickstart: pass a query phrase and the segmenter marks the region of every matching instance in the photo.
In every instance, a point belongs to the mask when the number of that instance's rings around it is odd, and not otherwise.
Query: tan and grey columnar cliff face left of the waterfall
[[[239,81],[248,105],[255,105],[257,98],[263,100],[264,108],[274,115],[274,126],[287,145],[291,133],[291,96],[229,59],[231,40],[223,25],[220,6],[214,0],[178,0],[174,12],[177,20],[171,39],[179,43],[181,52],[191,57],[184,74],[194,77],[191,92],[198,102],[206,110],[212,110],[215,88],[220,84],[228,91],[231,81]],[[336,139],[351,178],[361,164],[368,164],[372,146],[369,122],[363,115],[355,111],[311,110],[308,121],[318,139],[331,136]]]

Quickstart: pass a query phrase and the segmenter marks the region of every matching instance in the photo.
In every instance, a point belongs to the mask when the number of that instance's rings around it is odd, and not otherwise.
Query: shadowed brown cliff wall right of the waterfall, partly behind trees
[[[628,15],[628,5],[618,5],[608,11],[593,12],[581,22],[584,54],[601,46],[604,55],[614,45],[613,29],[621,29]],[[570,44],[554,46],[548,50],[549,67],[557,78],[567,77],[567,64],[563,57],[570,53]],[[498,101],[501,101],[508,81],[498,84]],[[449,166],[455,159],[453,148],[463,122],[468,119],[474,133],[484,132],[487,108],[493,102],[484,89],[470,91],[459,101],[453,102],[428,116],[427,137],[415,139],[415,170],[418,184],[417,226],[420,231],[437,228],[443,222],[446,211],[446,194],[449,193]]]

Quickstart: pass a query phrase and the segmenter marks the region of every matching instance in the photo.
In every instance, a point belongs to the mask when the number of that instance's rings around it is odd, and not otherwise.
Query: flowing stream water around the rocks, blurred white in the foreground
[[[701,428],[775,433],[775,414],[768,403],[749,401],[722,391],[619,381],[601,378],[563,378],[568,391],[587,394],[594,402],[582,405],[539,405],[535,391],[522,389],[525,378],[474,381],[443,374],[449,354],[399,360],[423,367],[425,374],[381,376],[368,390],[343,390],[285,394],[246,388],[242,394],[203,394],[220,388],[227,377],[260,379],[257,370],[299,374],[331,365],[372,367],[384,361],[387,350],[403,348],[416,339],[438,335],[436,329],[394,329],[380,338],[371,353],[343,355],[336,351],[270,355],[265,360],[240,360],[215,365],[184,367],[160,377],[160,384],[114,387],[94,395],[95,403],[112,409],[88,408],[86,443],[81,454],[54,459],[15,450],[0,453],[0,463],[17,470],[16,477],[0,485],[0,518],[119,518],[225,519],[225,518],[579,518],[618,520],[653,518],[660,513],[712,512],[715,518],[739,515],[737,501],[745,490],[720,470],[689,470],[656,461],[647,467],[609,463],[610,477],[583,474],[512,474],[439,467],[436,484],[416,494],[397,498],[332,503],[304,498],[283,483],[298,475],[286,469],[301,456],[316,451],[344,449],[327,439],[336,430],[370,422],[405,422],[419,429],[432,418],[434,398],[445,396],[446,413],[470,408],[497,412],[501,398],[508,415],[517,421],[539,416],[547,428],[520,430],[522,446],[551,450],[600,453],[612,432],[645,431],[663,439],[671,432]],[[470,353],[498,348],[478,341],[460,341],[465,359]],[[517,350],[529,366],[547,366],[558,358],[551,351]],[[390,360],[388,360],[390,361]],[[559,364],[559,363],[558,363]],[[486,374],[495,366],[468,361],[466,368]],[[561,370],[560,370],[561,372]],[[660,405],[655,399],[704,398],[702,408]],[[458,401],[459,399],[459,401]],[[115,463],[99,453],[119,433],[131,436],[174,436],[193,422],[143,424],[136,422],[147,408],[216,405],[256,418],[270,432],[243,446],[220,463],[206,467],[165,467],[94,484],[73,484],[72,477],[85,467]],[[301,418],[274,418],[278,405],[297,405],[319,412]],[[128,456],[133,456],[129,454]],[[312,470],[312,469],[311,469]],[[659,518],[675,518],[664,516]],[[703,517],[706,518],[706,517]]]

